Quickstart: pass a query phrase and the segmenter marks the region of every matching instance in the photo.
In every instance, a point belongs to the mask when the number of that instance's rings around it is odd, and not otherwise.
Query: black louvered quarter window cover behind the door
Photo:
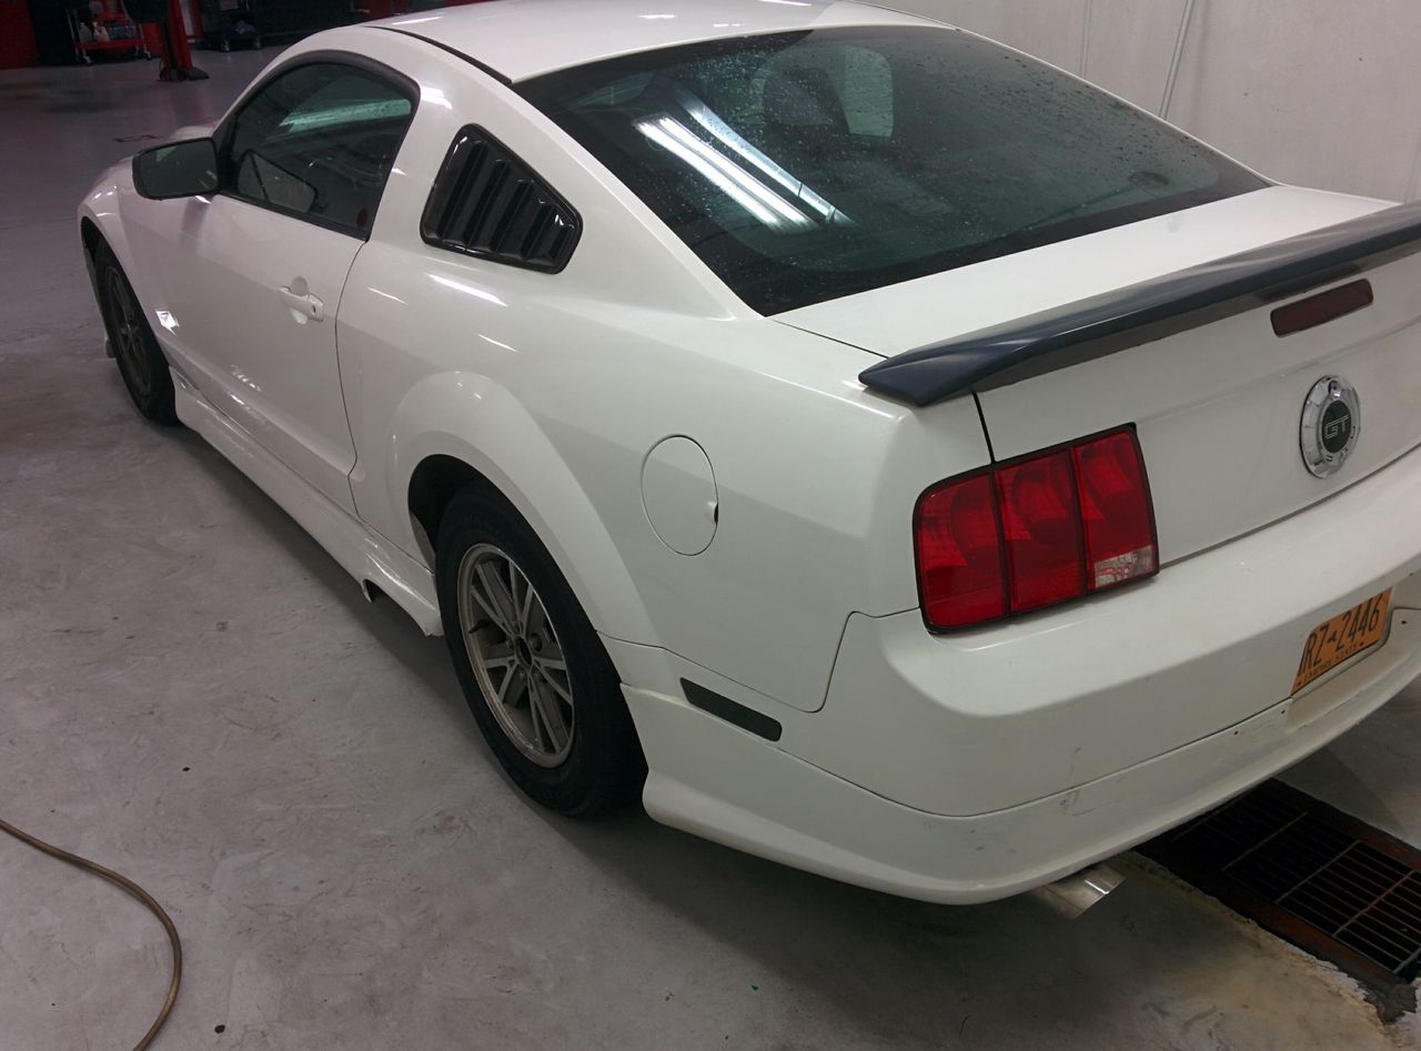
[[[571,205],[476,125],[455,135],[421,227],[429,244],[547,271],[567,266],[581,233]]]

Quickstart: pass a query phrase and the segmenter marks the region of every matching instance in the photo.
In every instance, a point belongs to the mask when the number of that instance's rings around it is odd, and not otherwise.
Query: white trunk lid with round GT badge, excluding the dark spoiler
[[[776,321],[891,356],[1385,207],[1269,187]],[[1421,440],[1421,254],[1364,276],[1374,291],[1370,307],[1293,335],[1273,332],[1273,308],[1356,274],[1107,356],[985,385],[976,398],[992,453],[1006,460],[1134,423],[1162,562],[1302,510]],[[1303,403],[1324,376],[1340,376],[1360,395],[1360,437],[1341,470],[1314,477],[1303,463],[1300,426]]]

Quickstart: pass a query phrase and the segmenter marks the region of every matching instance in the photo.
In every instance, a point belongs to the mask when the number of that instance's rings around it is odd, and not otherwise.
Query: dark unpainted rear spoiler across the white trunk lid
[[[905,351],[858,379],[870,391],[932,405],[1198,328],[1418,251],[1421,202],[1398,205]]]

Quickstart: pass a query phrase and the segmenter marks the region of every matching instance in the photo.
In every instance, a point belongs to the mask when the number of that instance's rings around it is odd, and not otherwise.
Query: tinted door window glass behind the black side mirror
[[[364,237],[414,111],[374,72],[298,65],[242,107],[223,149],[223,189]]]

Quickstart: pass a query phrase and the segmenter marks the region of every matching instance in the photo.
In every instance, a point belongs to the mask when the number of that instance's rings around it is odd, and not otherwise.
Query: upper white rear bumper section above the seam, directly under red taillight
[[[1307,635],[1330,616],[1385,588],[1394,609],[1421,608],[1418,514],[1414,452],[1081,604],[946,636],[917,611],[855,614],[818,719],[794,734],[786,726],[784,747],[934,814],[988,814],[1087,784],[1287,700]],[[1326,696],[1347,668],[1299,703]]]

